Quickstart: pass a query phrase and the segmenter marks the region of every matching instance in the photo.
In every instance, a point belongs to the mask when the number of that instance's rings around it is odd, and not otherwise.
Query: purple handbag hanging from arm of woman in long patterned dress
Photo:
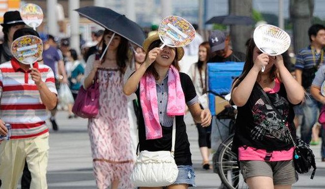
[[[99,111],[99,83],[97,72],[88,89],[80,87],[72,112],[82,118],[94,118]]]

